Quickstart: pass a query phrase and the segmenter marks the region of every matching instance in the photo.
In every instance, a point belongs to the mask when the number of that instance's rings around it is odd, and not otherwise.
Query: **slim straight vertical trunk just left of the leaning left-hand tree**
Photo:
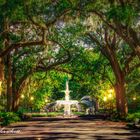
[[[11,56],[7,56],[7,111],[12,110],[12,65]]]

